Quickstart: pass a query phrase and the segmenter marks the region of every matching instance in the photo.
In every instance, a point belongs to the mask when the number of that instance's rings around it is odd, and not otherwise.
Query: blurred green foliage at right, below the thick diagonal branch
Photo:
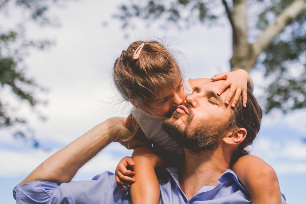
[[[279,7],[281,9],[281,5]],[[265,77],[273,79],[265,93],[266,113],[274,108],[287,113],[306,107],[305,22],[306,10],[274,39],[264,53],[261,63],[265,67]]]

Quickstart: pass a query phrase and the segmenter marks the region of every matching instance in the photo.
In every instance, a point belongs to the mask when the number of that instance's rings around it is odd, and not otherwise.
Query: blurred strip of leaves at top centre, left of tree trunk
[[[129,1],[130,3],[120,6],[120,11],[114,17],[122,21],[122,28],[135,26],[131,19],[134,17],[148,20],[163,19],[164,28],[169,22],[174,23],[178,28],[188,28],[196,21],[211,23],[218,18],[213,11],[218,6],[216,1],[201,0],[177,0],[177,1]],[[185,11],[188,11],[187,15]],[[210,20],[210,21],[207,21]],[[181,24],[183,23],[183,24]]]

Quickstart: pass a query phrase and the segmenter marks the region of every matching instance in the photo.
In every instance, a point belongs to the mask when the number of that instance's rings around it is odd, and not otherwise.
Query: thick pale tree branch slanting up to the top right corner
[[[263,34],[252,44],[254,58],[257,58],[261,52],[267,49],[274,37],[282,32],[285,26],[290,24],[304,10],[305,4],[306,0],[295,0],[278,15],[274,24],[270,24],[265,28]]]

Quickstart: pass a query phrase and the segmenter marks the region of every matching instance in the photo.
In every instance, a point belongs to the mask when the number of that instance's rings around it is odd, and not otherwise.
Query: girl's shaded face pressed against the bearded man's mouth
[[[185,101],[186,94],[180,75],[176,76],[175,89],[165,89],[161,93],[161,100],[152,103],[152,106],[144,107],[144,110],[157,117],[166,117],[167,113],[179,103]]]

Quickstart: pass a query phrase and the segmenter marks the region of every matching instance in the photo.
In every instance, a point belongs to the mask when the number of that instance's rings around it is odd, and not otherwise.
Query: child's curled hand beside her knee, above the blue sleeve
[[[117,182],[117,186],[124,190],[123,186],[131,187],[131,183],[135,182],[135,179],[129,177],[129,175],[134,176],[135,172],[127,169],[128,167],[135,166],[135,162],[130,157],[124,157],[120,160],[117,168],[115,170],[115,178]]]

